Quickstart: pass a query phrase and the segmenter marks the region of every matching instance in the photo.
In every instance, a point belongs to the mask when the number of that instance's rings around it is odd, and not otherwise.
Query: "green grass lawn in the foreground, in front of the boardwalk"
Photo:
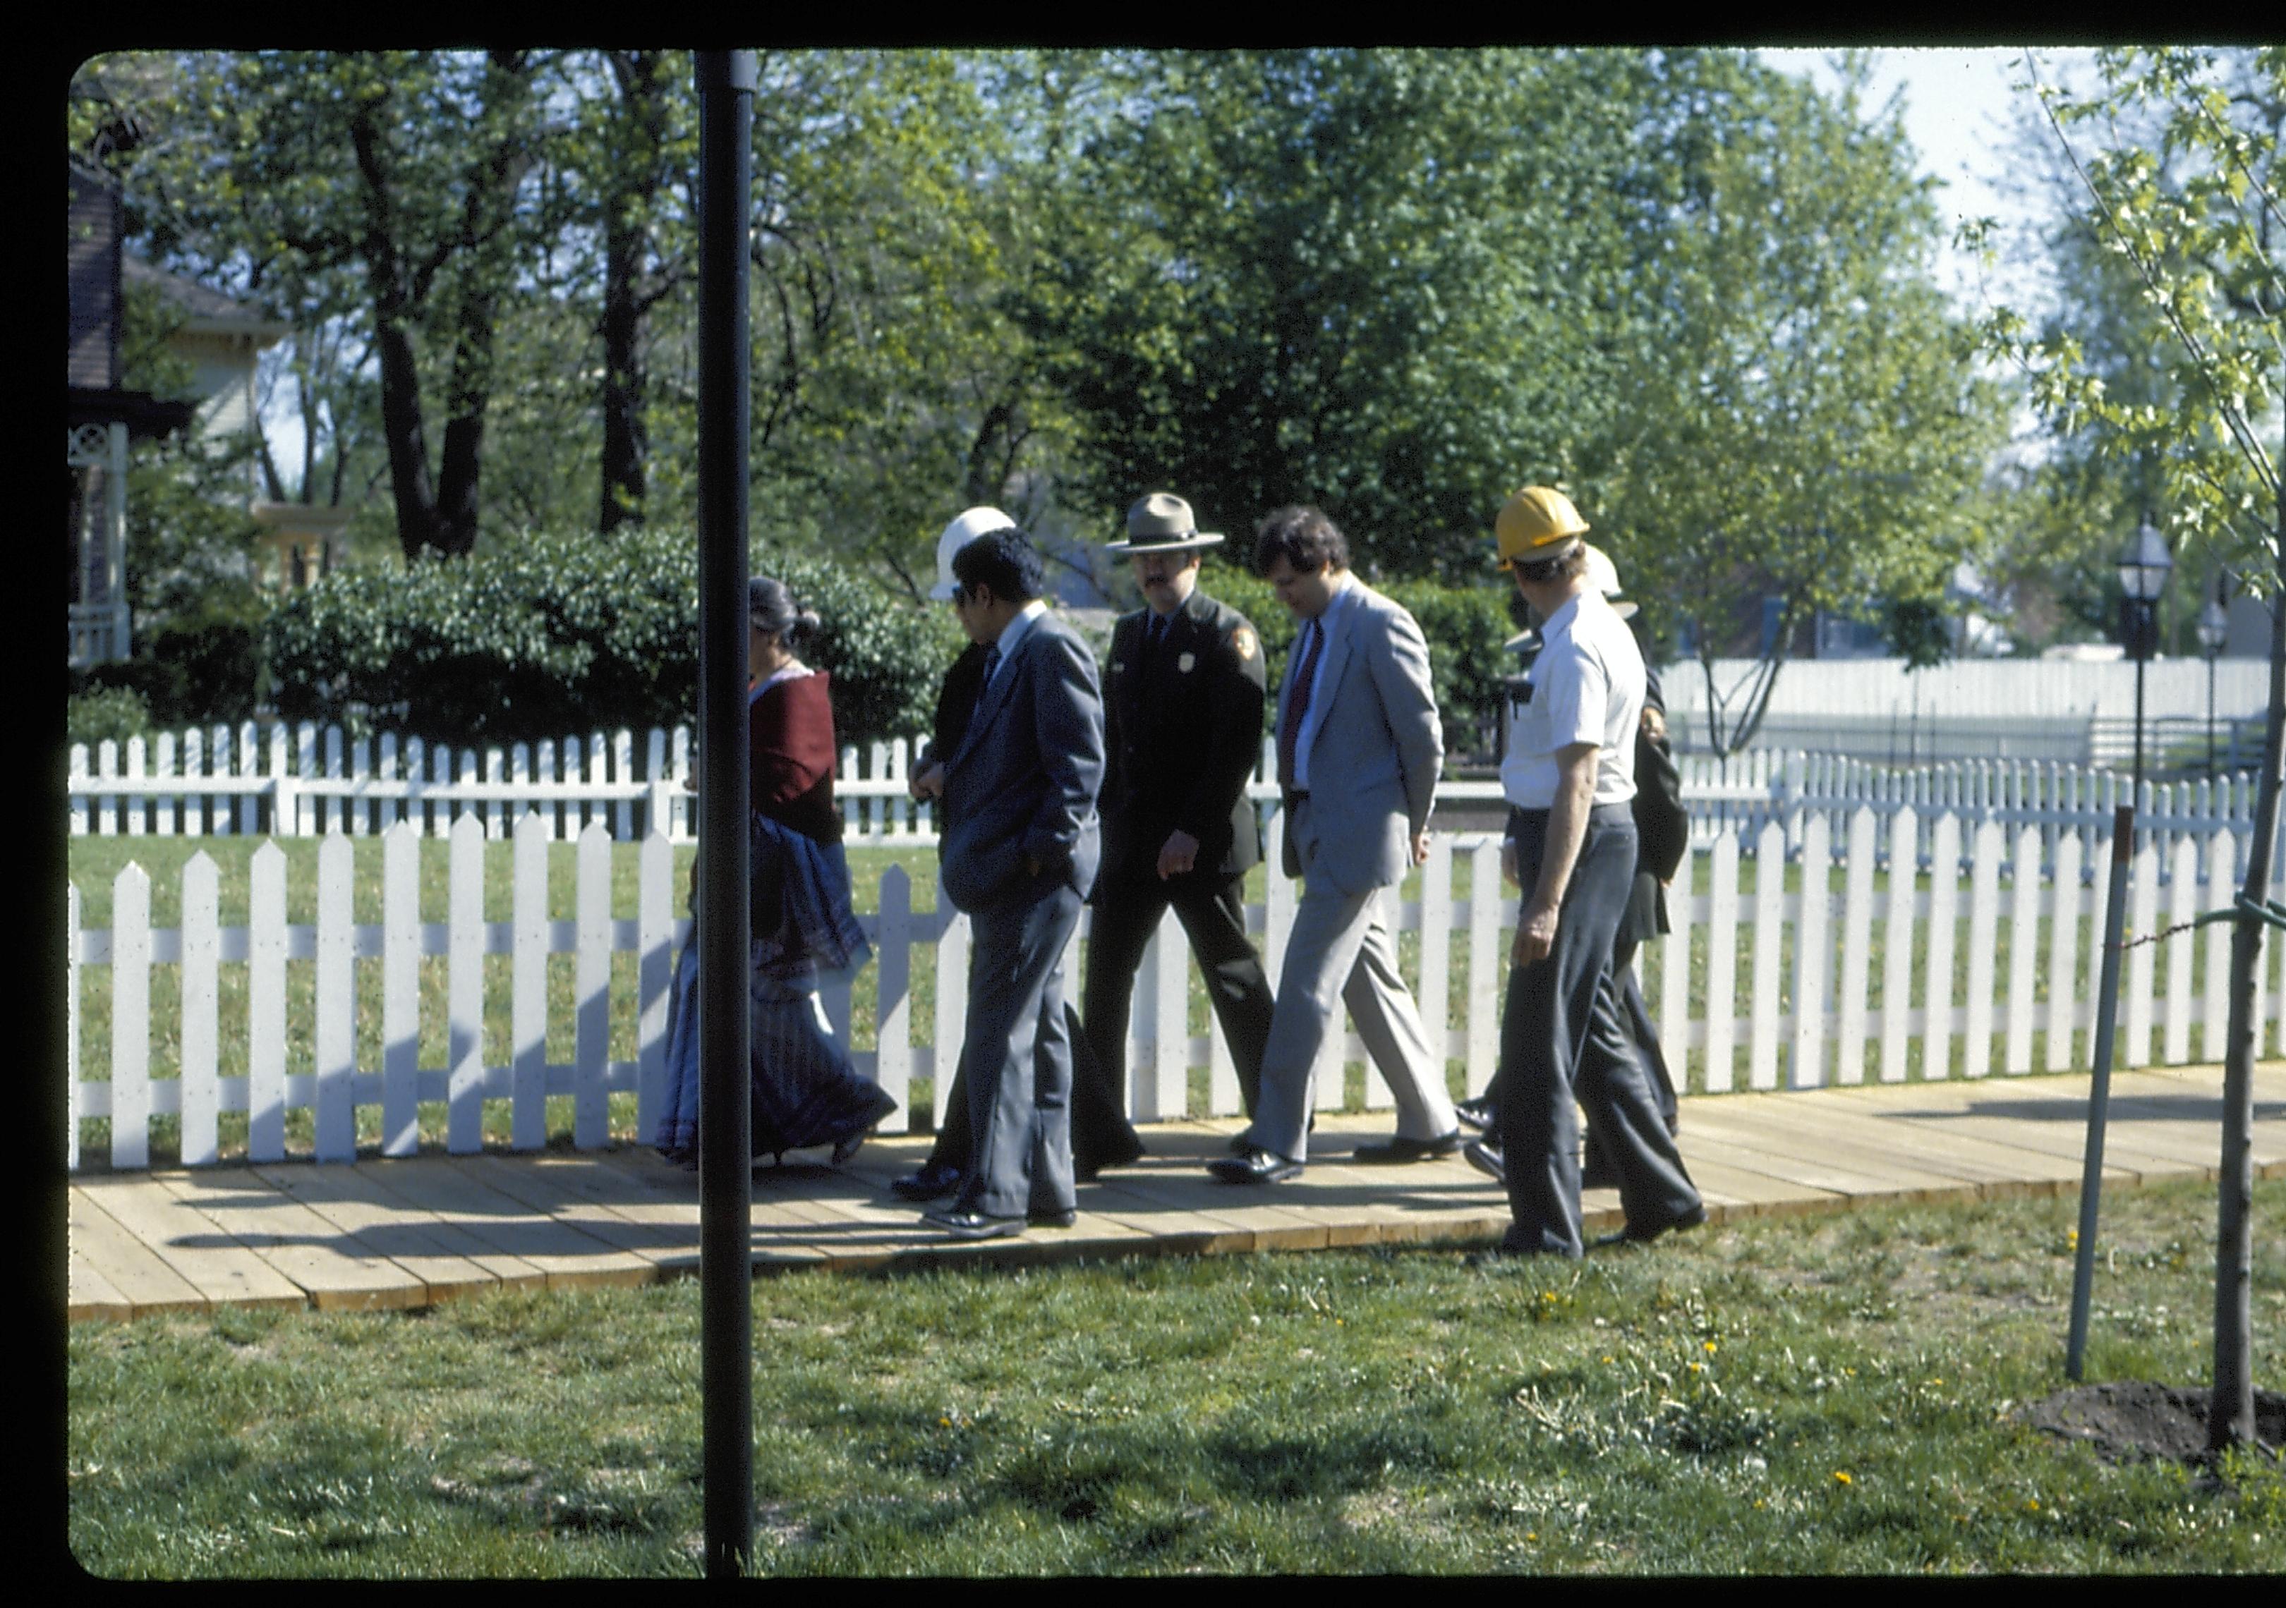
[[[2286,1181],[2256,1183],[2256,1217]],[[2089,1380],[2204,1384],[2213,1188],[2105,1199]],[[768,1574],[2279,1571],[2286,1480],[2105,1464],[2073,1199],[1580,1265],[1385,1249],[754,1284]],[[2254,1377],[2286,1368],[2256,1233]],[[69,1336],[101,1576],[695,1574],[700,1284]]]

